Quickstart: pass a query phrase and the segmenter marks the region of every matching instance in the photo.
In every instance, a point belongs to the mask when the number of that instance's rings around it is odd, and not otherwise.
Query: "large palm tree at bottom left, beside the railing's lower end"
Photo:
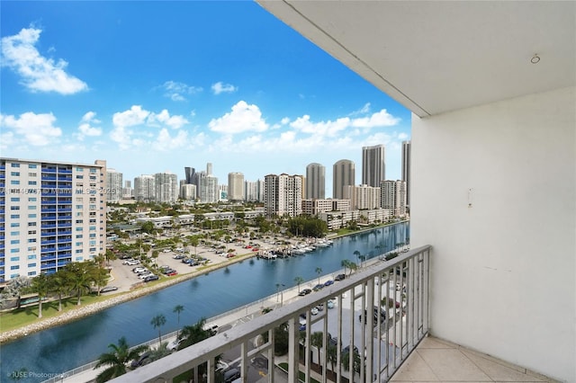
[[[101,366],[110,367],[96,376],[96,383],[103,383],[125,374],[126,364],[129,361],[139,358],[141,352],[148,350],[148,346],[145,345],[140,345],[130,350],[126,338],[123,336],[118,340],[118,345],[110,343],[108,344],[108,348],[112,349],[112,352],[101,354],[98,362],[94,366],[94,370]]]

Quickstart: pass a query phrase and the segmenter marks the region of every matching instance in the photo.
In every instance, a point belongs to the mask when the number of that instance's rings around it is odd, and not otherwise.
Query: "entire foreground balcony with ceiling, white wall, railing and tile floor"
[[[336,344],[358,334],[365,358],[337,381],[498,380],[483,361],[514,381],[576,381],[576,3],[259,4],[412,111],[412,250],[116,381],[166,381],[205,361],[213,381],[214,358],[236,345],[247,376],[248,343],[284,323],[288,381],[299,370],[309,381],[302,347],[312,322],[329,321],[306,316],[301,338],[299,314],[333,296],[372,312],[391,298],[383,284],[406,290],[400,319],[338,312]],[[426,334],[454,347],[419,350]],[[352,366],[337,348],[335,364]],[[256,353],[274,363],[273,343]]]

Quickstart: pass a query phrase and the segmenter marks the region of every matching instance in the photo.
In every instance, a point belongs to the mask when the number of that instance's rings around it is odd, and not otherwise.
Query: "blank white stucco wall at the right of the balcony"
[[[431,333],[569,382],[575,105],[571,87],[413,116],[410,197],[410,242],[433,245]]]

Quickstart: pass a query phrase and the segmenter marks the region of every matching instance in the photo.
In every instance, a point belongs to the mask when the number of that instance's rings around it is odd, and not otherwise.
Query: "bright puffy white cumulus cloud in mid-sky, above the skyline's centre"
[[[262,112],[257,105],[248,105],[240,101],[232,106],[232,111],[208,123],[212,131],[225,134],[237,134],[245,131],[265,131],[268,129],[266,120],[262,119]]]

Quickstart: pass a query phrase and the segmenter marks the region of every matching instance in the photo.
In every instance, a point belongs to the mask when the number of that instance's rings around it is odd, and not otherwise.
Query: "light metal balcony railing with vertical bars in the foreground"
[[[272,382],[275,379],[272,372],[275,371],[275,328],[283,324],[287,325],[288,335],[288,381],[299,381],[301,371],[304,381],[311,381],[312,362],[322,366],[322,381],[328,380],[332,365],[335,366],[333,374],[337,382],[343,378],[362,382],[387,381],[428,334],[429,254],[430,246],[427,245],[403,253],[392,261],[374,263],[344,281],[236,325],[113,381],[168,382],[207,363],[207,381],[213,383],[215,358],[238,347],[238,370],[242,380],[247,381],[250,360],[263,354],[270,371],[268,381]],[[318,315],[311,316],[313,307],[320,304],[329,307],[331,299],[336,300],[334,308],[326,308]],[[304,325],[300,324],[302,313],[308,313]],[[313,333],[321,334],[320,346],[311,344]],[[250,350],[261,334],[268,334],[269,341],[263,341]],[[336,350],[336,355],[328,355],[331,349],[329,344],[337,345],[335,349],[332,348]],[[348,350],[355,352],[345,352],[347,346]],[[349,363],[342,363],[344,358],[349,358]],[[346,370],[343,364],[356,368]]]

